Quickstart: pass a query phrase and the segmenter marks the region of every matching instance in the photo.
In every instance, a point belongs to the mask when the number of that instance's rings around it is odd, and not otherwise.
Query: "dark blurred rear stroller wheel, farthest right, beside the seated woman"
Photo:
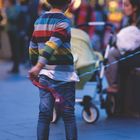
[[[115,95],[107,95],[106,98],[106,113],[108,117],[113,116],[116,113],[116,96]]]

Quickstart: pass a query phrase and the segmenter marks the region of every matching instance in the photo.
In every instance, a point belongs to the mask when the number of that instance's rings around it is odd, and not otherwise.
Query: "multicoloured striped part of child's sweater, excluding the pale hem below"
[[[46,12],[34,25],[29,46],[32,64],[72,65],[70,20],[63,13]]]

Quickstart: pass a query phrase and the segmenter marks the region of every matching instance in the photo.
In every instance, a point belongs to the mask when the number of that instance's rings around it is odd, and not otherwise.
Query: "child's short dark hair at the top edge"
[[[71,0],[46,0],[46,1],[54,8],[60,8],[71,3]]]

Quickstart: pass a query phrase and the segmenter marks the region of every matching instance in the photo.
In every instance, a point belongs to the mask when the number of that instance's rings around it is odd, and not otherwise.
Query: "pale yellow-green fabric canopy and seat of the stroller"
[[[92,49],[89,35],[81,29],[71,29],[71,50],[75,68],[80,78],[76,87],[82,89],[86,82],[91,79],[98,58]]]

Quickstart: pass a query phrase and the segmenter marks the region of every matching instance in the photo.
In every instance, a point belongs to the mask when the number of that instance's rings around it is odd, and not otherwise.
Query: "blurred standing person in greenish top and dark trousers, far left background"
[[[7,2],[8,2],[6,7],[7,31],[13,61],[13,67],[9,72],[18,73],[20,63],[19,32],[18,32],[20,9],[16,5],[16,0],[8,0]]]

